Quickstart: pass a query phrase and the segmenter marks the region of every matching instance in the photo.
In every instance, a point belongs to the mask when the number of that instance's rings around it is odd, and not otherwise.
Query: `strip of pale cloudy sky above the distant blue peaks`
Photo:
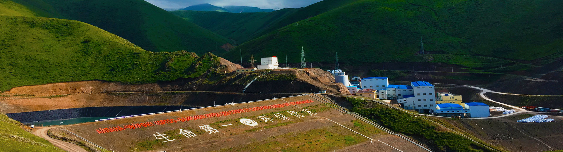
[[[184,8],[209,3],[215,6],[253,6],[260,8],[300,8],[321,0],[145,0],[160,8]]]

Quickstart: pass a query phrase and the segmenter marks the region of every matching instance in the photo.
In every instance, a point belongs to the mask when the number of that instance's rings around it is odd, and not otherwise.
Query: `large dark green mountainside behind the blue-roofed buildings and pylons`
[[[302,46],[308,62],[332,63],[337,51],[344,63],[420,62],[443,59],[444,54],[532,61],[563,55],[557,52],[563,48],[559,6],[563,1],[361,0],[298,21],[298,25],[286,23],[235,49],[245,50],[243,58],[251,53],[283,56],[287,49],[290,63],[300,62]],[[425,49],[437,54],[415,56],[421,37]],[[229,52],[224,57],[239,55]]]

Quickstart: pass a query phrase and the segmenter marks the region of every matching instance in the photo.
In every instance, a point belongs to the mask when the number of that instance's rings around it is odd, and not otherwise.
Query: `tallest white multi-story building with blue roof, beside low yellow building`
[[[414,109],[421,113],[435,113],[436,101],[434,85],[426,81],[410,82],[413,87],[412,95],[403,95],[403,99],[397,99],[397,103],[403,105],[403,109]]]

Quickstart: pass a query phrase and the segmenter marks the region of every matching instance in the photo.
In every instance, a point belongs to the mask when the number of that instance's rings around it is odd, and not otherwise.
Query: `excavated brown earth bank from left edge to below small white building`
[[[245,93],[269,94],[240,93],[249,81],[262,75],[261,73],[254,73],[253,75],[251,73],[225,73],[222,75],[222,79],[213,83],[202,82],[208,79],[176,80],[150,84],[80,81],[15,87],[3,93],[3,95],[10,96],[0,96],[0,113],[127,105],[183,104],[204,107],[213,105],[214,101],[217,105],[220,105],[279,98],[309,93],[311,90],[314,92],[327,90],[332,93],[348,93],[345,86],[334,82],[334,77],[329,72],[320,69],[271,71],[267,75],[294,75],[297,79],[262,81],[258,79],[245,91]]]

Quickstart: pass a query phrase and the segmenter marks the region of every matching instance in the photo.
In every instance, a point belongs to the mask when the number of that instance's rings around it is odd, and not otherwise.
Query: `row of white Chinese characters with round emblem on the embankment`
[[[311,110],[309,110],[309,109],[301,109],[301,111],[302,111],[303,113],[309,114],[310,116],[313,116],[314,114],[316,114],[316,113],[314,113],[314,112],[311,112]],[[288,113],[291,114],[292,116],[297,117],[297,118],[305,117],[304,115],[298,114],[297,112],[294,112],[294,111],[288,111]],[[284,116],[284,115],[281,114],[281,113],[274,113],[274,116],[277,117],[277,118],[280,118],[280,119],[282,119],[282,120],[291,119],[291,118],[289,118],[289,117]],[[262,119],[262,121],[264,121],[264,122],[269,122],[269,121],[274,122],[274,119],[268,118],[267,116],[259,116],[259,117],[256,117],[256,118],[260,118],[260,119]],[[244,124],[244,125],[247,125],[247,126],[257,126],[257,125],[258,125],[258,122],[253,121],[252,119],[247,119],[247,118],[242,118],[242,119],[240,119],[240,123],[242,123],[242,124]],[[229,124],[229,125],[232,125],[232,124]],[[229,125],[223,125],[223,126],[229,126]],[[209,126],[209,125],[199,126],[199,128],[202,129],[202,130],[204,130],[205,132],[209,132],[209,134],[218,133],[218,132],[219,132],[219,131],[217,131],[217,129],[215,129],[215,128]],[[157,135],[157,134],[158,134],[158,135]],[[159,133],[159,132],[157,132],[157,134],[154,134],[154,133],[153,133],[153,135],[154,135],[155,138],[166,140],[166,141],[162,141],[162,142],[168,142],[168,141],[175,141],[175,140],[176,140],[176,139],[172,139],[172,140],[168,139],[169,136],[164,136],[164,135],[166,135],[166,134],[161,134],[161,133]],[[184,136],[186,136],[187,138],[197,136],[197,135],[195,135],[195,133],[192,132],[191,130],[182,130],[181,128],[180,128],[180,133],[179,133],[179,134],[180,134],[180,135],[184,135]]]

